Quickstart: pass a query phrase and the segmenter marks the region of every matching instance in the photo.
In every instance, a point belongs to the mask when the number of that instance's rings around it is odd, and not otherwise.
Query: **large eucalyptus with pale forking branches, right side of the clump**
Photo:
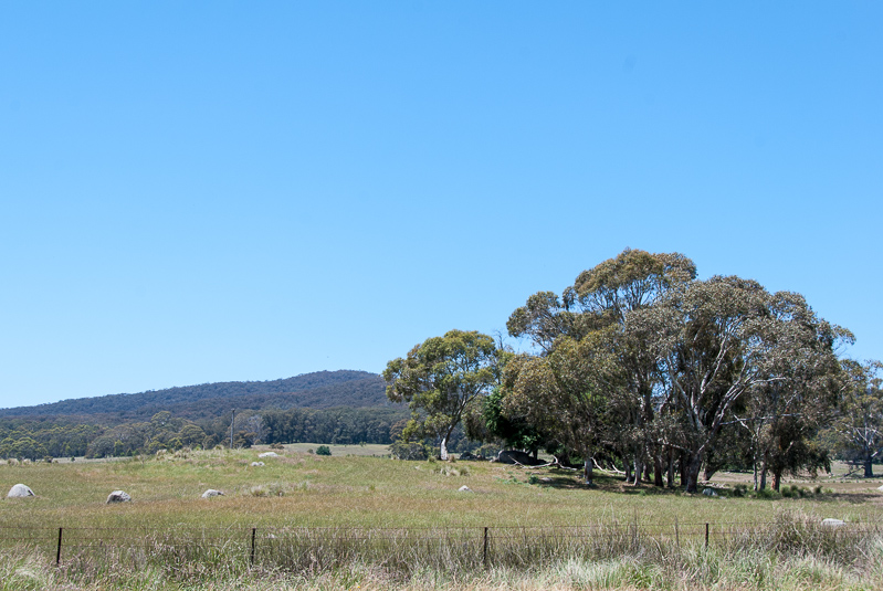
[[[670,291],[628,324],[655,357],[667,397],[683,414],[691,493],[735,404],[788,384],[795,368],[821,367],[824,358],[830,370],[839,330],[798,296],[772,296],[757,282],[721,276]]]

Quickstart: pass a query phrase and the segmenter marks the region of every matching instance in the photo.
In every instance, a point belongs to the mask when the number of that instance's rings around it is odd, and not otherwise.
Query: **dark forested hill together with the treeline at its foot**
[[[367,371],[319,371],[0,410],[0,457],[104,457],[183,446],[391,443],[408,416]]]

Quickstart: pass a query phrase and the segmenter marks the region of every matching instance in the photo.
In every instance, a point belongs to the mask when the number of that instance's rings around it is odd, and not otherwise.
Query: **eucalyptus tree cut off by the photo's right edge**
[[[883,456],[883,363],[843,361],[847,387],[841,415],[834,430],[849,455],[864,466],[864,476],[874,477],[874,461]]]

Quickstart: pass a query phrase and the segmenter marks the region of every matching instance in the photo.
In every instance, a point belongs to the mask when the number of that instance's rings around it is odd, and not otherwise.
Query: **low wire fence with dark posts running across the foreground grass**
[[[556,559],[607,559],[711,547],[848,556],[883,540],[883,524],[598,524],[557,527],[0,527],[0,549],[35,550],[59,567],[255,566],[316,571],[370,562],[392,570],[529,567]]]

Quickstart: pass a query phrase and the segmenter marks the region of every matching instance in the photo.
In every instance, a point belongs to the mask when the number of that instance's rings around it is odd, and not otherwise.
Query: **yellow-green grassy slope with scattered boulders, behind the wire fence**
[[[614,477],[602,477],[599,487],[590,489],[579,484],[576,473],[559,469],[398,462],[369,455],[383,453],[382,446],[332,446],[330,457],[295,451],[309,446],[288,446],[284,456],[266,458],[262,467],[250,466],[261,450],[199,452],[167,460],[0,465],[0,492],[24,483],[38,495],[0,503],[0,526],[498,527],[635,519],[684,525],[769,521],[782,510],[819,519],[876,521],[883,509],[883,494],[875,490],[880,483],[862,483],[860,488],[826,484],[844,492],[821,499],[707,498],[650,486],[635,489]],[[551,483],[528,484],[532,474],[550,477]],[[458,492],[463,485],[474,493]],[[134,503],[105,505],[107,494],[118,488],[128,492]],[[203,500],[200,495],[207,488],[219,488],[227,496]],[[256,496],[262,494],[266,496]]]

